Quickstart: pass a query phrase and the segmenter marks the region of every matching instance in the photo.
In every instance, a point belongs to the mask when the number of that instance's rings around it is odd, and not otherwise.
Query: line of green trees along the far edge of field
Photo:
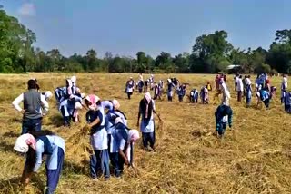
[[[142,51],[135,58],[110,52],[98,58],[94,49],[65,57],[57,48],[47,52],[35,48],[35,42],[35,33],[0,7],[0,73],[217,73],[226,72],[231,64],[241,73],[291,73],[291,29],[277,30],[269,50],[235,48],[222,30],[197,37],[192,53],[162,52],[156,59]]]

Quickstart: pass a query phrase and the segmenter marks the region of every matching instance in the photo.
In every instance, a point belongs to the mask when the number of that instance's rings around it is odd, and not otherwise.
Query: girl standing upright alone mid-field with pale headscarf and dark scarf
[[[140,130],[142,131],[144,149],[147,150],[148,142],[152,150],[155,150],[155,121],[154,113],[156,113],[156,106],[151,94],[146,92],[145,97],[139,102],[139,112],[137,117],[137,126],[139,127],[139,120],[142,117]],[[160,119],[160,118],[159,118]]]

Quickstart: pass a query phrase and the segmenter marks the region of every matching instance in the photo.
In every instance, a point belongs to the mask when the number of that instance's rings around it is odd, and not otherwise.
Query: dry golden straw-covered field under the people
[[[23,188],[19,179],[25,157],[16,153],[13,146],[21,133],[22,115],[12,107],[13,100],[26,91],[28,79],[36,78],[41,91],[55,91],[64,86],[72,73],[27,73],[0,75],[0,193],[42,193],[46,185],[45,162]],[[94,93],[102,100],[116,99],[128,118],[128,126],[136,127],[139,101],[144,94],[135,92],[127,100],[125,82],[137,74],[125,73],[76,73],[77,86],[86,94]],[[149,75],[144,75],[147,78]],[[206,82],[215,88],[215,75],[204,74],[155,74],[155,80],[176,76],[189,83],[187,92],[200,90]],[[251,80],[255,82],[255,76]],[[145,152],[141,140],[135,144],[135,167],[125,168],[125,176],[109,181],[89,177],[88,155],[82,146],[89,136],[72,137],[85,126],[85,109],[81,110],[81,123],[72,127],[62,126],[55,97],[49,101],[50,111],[43,119],[43,129],[54,131],[66,141],[65,164],[56,193],[291,193],[291,115],[280,104],[280,77],[271,78],[278,88],[270,104],[256,109],[236,102],[233,75],[228,75],[231,107],[234,112],[233,129],[226,131],[223,141],[218,140],[214,113],[220,104],[210,92],[210,103],[192,104],[187,98],[167,102],[156,100],[156,111],[163,123],[156,118],[156,152]],[[166,90],[166,88],[165,88]],[[187,93],[187,94],[188,94]],[[85,142],[85,143],[84,143]]]

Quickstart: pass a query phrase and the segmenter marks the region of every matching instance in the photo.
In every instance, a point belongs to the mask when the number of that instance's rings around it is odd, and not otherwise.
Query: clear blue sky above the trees
[[[225,30],[236,48],[269,48],[291,28],[289,0],[0,0],[35,32],[35,46],[69,56],[95,49],[132,56],[191,53],[196,37]]]

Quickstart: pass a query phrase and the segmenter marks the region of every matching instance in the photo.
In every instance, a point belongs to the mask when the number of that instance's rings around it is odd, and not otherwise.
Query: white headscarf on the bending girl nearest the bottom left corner
[[[29,150],[29,146],[33,150],[36,150],[35,137],[32,134],[26,133],[17,138],[14,150],[21,153],[26,153]]]

